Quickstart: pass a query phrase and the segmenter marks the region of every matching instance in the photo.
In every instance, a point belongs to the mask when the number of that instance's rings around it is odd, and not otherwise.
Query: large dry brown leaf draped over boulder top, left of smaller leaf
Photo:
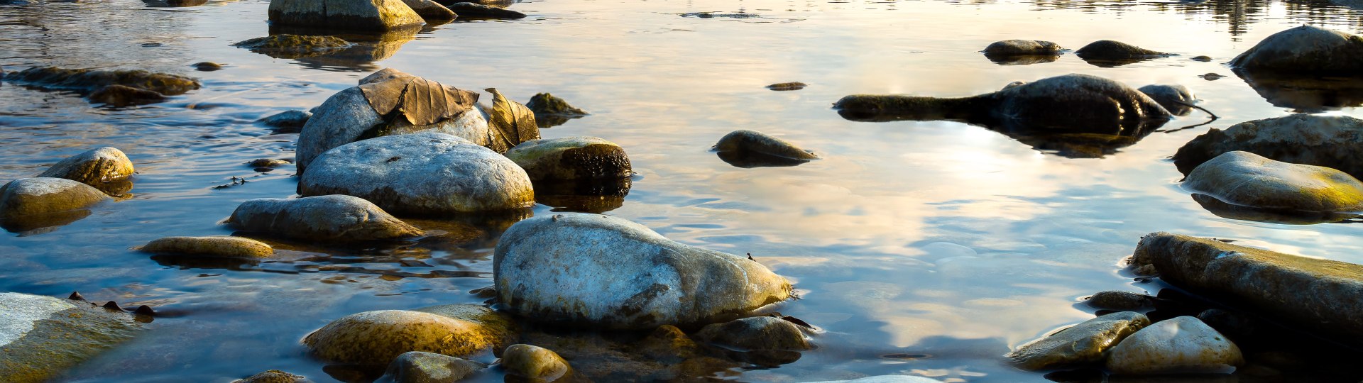
[[[397,112],[401,117],[398,121],[405,120],[417,127],[458,117],[478,102],[478,94],[474,91],[417,76],[399,76],[361,85],[360,91],[380,116],[391,116]]]

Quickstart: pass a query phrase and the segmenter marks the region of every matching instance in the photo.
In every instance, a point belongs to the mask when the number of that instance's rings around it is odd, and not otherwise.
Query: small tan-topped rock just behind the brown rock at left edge
[[[128,159],[127,154],[105,146],[67,157],[38,177],[67,179],[106,194],[121,195],[131,188],[128,179],[134,172],[132,159]]]

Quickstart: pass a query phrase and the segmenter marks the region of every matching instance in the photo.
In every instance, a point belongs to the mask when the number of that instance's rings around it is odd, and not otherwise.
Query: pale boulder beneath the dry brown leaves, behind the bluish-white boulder
[[[371,85],[384,80],[401,80],[412,75],[394,70],[383,70],[360,80]],[[487,116],[480,109],[466,110],[454,119],[440,120],[429,125],[388,123],[365,98],[360,87],[342,90],[318,106],[298,132],[298,147],[294,164],[305,173],[312,159],[333,147],[357,142],[365,138],[402,135],[414,132],[442,132],[468,139],[480,146],[495,143],[496,135],[488,127]]]

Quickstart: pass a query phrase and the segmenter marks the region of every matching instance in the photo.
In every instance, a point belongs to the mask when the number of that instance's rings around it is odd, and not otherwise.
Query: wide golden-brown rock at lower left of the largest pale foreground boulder
[[[408,352],[468,357],[500,350],[515,333],[510,323],[474,305],[367,311],[333,320],[303,343],[326,361],[387,365]]]

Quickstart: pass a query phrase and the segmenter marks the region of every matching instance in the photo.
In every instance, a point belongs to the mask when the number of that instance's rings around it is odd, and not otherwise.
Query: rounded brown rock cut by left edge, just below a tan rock
[[[110,200],[94,187],[67,179],[18,179],[0,187],[0,225],[11,232],[61,226]]]

